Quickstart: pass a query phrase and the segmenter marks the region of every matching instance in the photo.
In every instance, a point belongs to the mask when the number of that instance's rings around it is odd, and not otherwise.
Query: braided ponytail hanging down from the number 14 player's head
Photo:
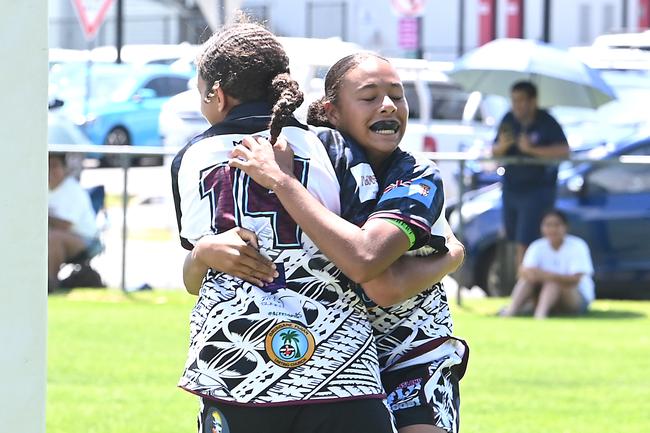
[[[298,87],[298,82],[286,72],[273,77],[269,90],[269,102],[273,104],[273,113],[269,124],[270,142],[275,144],[282,127],[296,111],[296,108],[302,104],[304,95]]]

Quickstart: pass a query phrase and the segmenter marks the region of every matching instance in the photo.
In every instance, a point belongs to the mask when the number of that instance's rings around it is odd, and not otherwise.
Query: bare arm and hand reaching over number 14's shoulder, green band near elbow
[[[355,282],[377,277],[412,246],[409,227],[375,218],[360,228],[331,212],[293,176],[291,169],[285,168],[285,173],[280,168],[268,141],[247,137],[232,156],[235,159],[229,164],[273,190],[300,228]]]

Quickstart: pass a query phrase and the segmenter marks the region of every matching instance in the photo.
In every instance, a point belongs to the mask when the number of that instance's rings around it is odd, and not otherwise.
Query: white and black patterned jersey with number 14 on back
[[[174,159],[179,232],[183,246],[191,249],[206,234],[235,226],[251,230],[280,276],[259,288],[208,272],[191,313],[190,348],[179,386],[249,405],[380,398],[377,354],[363,301],[341,282],[340,271],[275,195],[227,165],[242,134],[268,137],[268,115],[251,115],[268,111],[250,105],[236,107]],[[338,213],[339,186],[322,143],[295,120],[283,135],[294,150],[297,177]]]

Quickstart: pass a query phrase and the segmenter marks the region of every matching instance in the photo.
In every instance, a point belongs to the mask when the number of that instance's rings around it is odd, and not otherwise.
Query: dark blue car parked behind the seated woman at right
[[[650,133],[589,152],[592,158],[650,155]],[[650,298],[650,165],[577,163],[560,170],[556,207],[566,213],[569,232],[591,249],[598,297]],[[467,249],[455,277],[461,286],[508,295],[515,282],[514,248],[505,242],[501,185],[464,198],[460,237]],[[458,210],[450,215],[460,229]]]

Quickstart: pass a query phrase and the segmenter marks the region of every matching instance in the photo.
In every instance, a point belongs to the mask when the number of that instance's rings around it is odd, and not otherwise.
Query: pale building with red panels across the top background
[[[98,0],[96,0],[98,1]],[[196,21],[198,2],[237,2],[281,36],[341,37],[388,56],[416,55],[417,28],[403,20],[397,7],[423,5],[422,54],[450,60],[479,46],[486,37],[543,39],[544,5],[550,3],[548,38],[569,47],[586,45],[598,35],[636,29],[650,17],[650,0],[123,0],[124,43],[197,43],[206,38],[205,22]],[[49,0],[50,46],[85,47],[69,0]],[[522,5],[522,8],[518,6]],[[463,14],[461,19],[461,6]],[[191,9],[187,9],[190,7]],[[517,11],[523,13],[519,24]],[[192,15],[194,14],[194,15]],[[645,21],[640,18],[645,14]],[[115,40],[115,7],[97,36],[97,44]],[[194,20],[194,21],[192,21]],[[646,24],[647,25],[647,24]],[[513,27],[514,26],[514,27]],[[461,32],[462,29],[462,32]],[[204,31],[205,30],[205,31]],[[487,34],[487,36],[486,36]]]

